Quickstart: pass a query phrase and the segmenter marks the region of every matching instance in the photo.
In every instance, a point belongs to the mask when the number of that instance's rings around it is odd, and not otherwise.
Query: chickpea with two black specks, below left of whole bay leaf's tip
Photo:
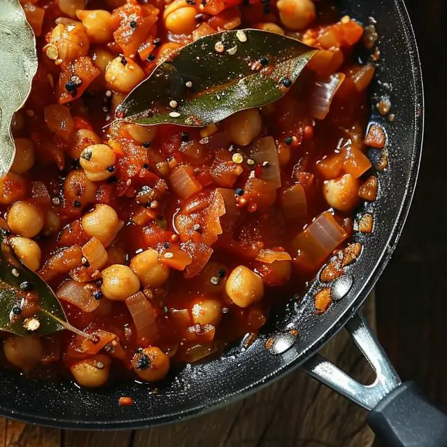
[[[85,148],[79,161],[87,179],[92,182],[101,182],[114,174],[115,152],[107,144],[94,144]]]

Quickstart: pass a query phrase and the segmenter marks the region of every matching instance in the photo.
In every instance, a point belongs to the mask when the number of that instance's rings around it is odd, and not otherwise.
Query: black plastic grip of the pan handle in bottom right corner
[[[389,447],[447,447],[447,416],[414,382],[399,385],[368,416],[369,426]]]

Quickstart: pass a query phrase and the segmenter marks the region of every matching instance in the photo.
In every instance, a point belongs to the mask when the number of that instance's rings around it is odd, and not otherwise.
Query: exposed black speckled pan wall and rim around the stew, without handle
[[[82,429],[138,428],[176,421],[245,396],[249,390],[299,366],[362,304],[393,252],[410,206],[421,152],[423,93],[417,46],[403,1],[339,3],[343,14],[365,24],[369,17],[376,19],[380,82],[375,82],[372,94],[373,98],[389,94],[396,114],[396,120],[390,123],[371,107],[371,121],[382,123],[387,131],[389,168],[378,173],[376,202],[365,206],[374,214],[374,231],[356,236],[364,249],[349,270],[353,285],[348,294],[324,315],[313,314],[310,299],[304,299],[300,308],[288,306],[272,317],[270,326],[245,352],[235,347],[222,358],[188,365],[158,392],[135,382],[91,391],[73,383],[29,380],[1,370],[1,415],[46,426]],[[375,103],[374,99],[371,103]],[[278,331],[286,331],[297,311],[302,313],[297,323],[297,343],[286,353],[273,355],[265,349],[265,341]],[[120,407],[120,396],[131,396],[134,405]]]

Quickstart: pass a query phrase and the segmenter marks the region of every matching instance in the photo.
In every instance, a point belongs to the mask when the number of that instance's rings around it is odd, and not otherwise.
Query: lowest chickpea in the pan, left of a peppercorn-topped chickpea
[[[70,371],[81,387],[102,387],[109,380],[110,358],[104,354],[96,354],[71,365]]]

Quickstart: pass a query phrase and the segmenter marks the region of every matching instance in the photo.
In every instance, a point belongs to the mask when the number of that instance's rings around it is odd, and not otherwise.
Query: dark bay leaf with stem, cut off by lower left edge
[[[30,331],[28,324],[38,327]],[[6,230],[0,229],[0,331],[26,336],[64,329],[91,338],[69,324],[51,287],[19,261],[8,245]]]

